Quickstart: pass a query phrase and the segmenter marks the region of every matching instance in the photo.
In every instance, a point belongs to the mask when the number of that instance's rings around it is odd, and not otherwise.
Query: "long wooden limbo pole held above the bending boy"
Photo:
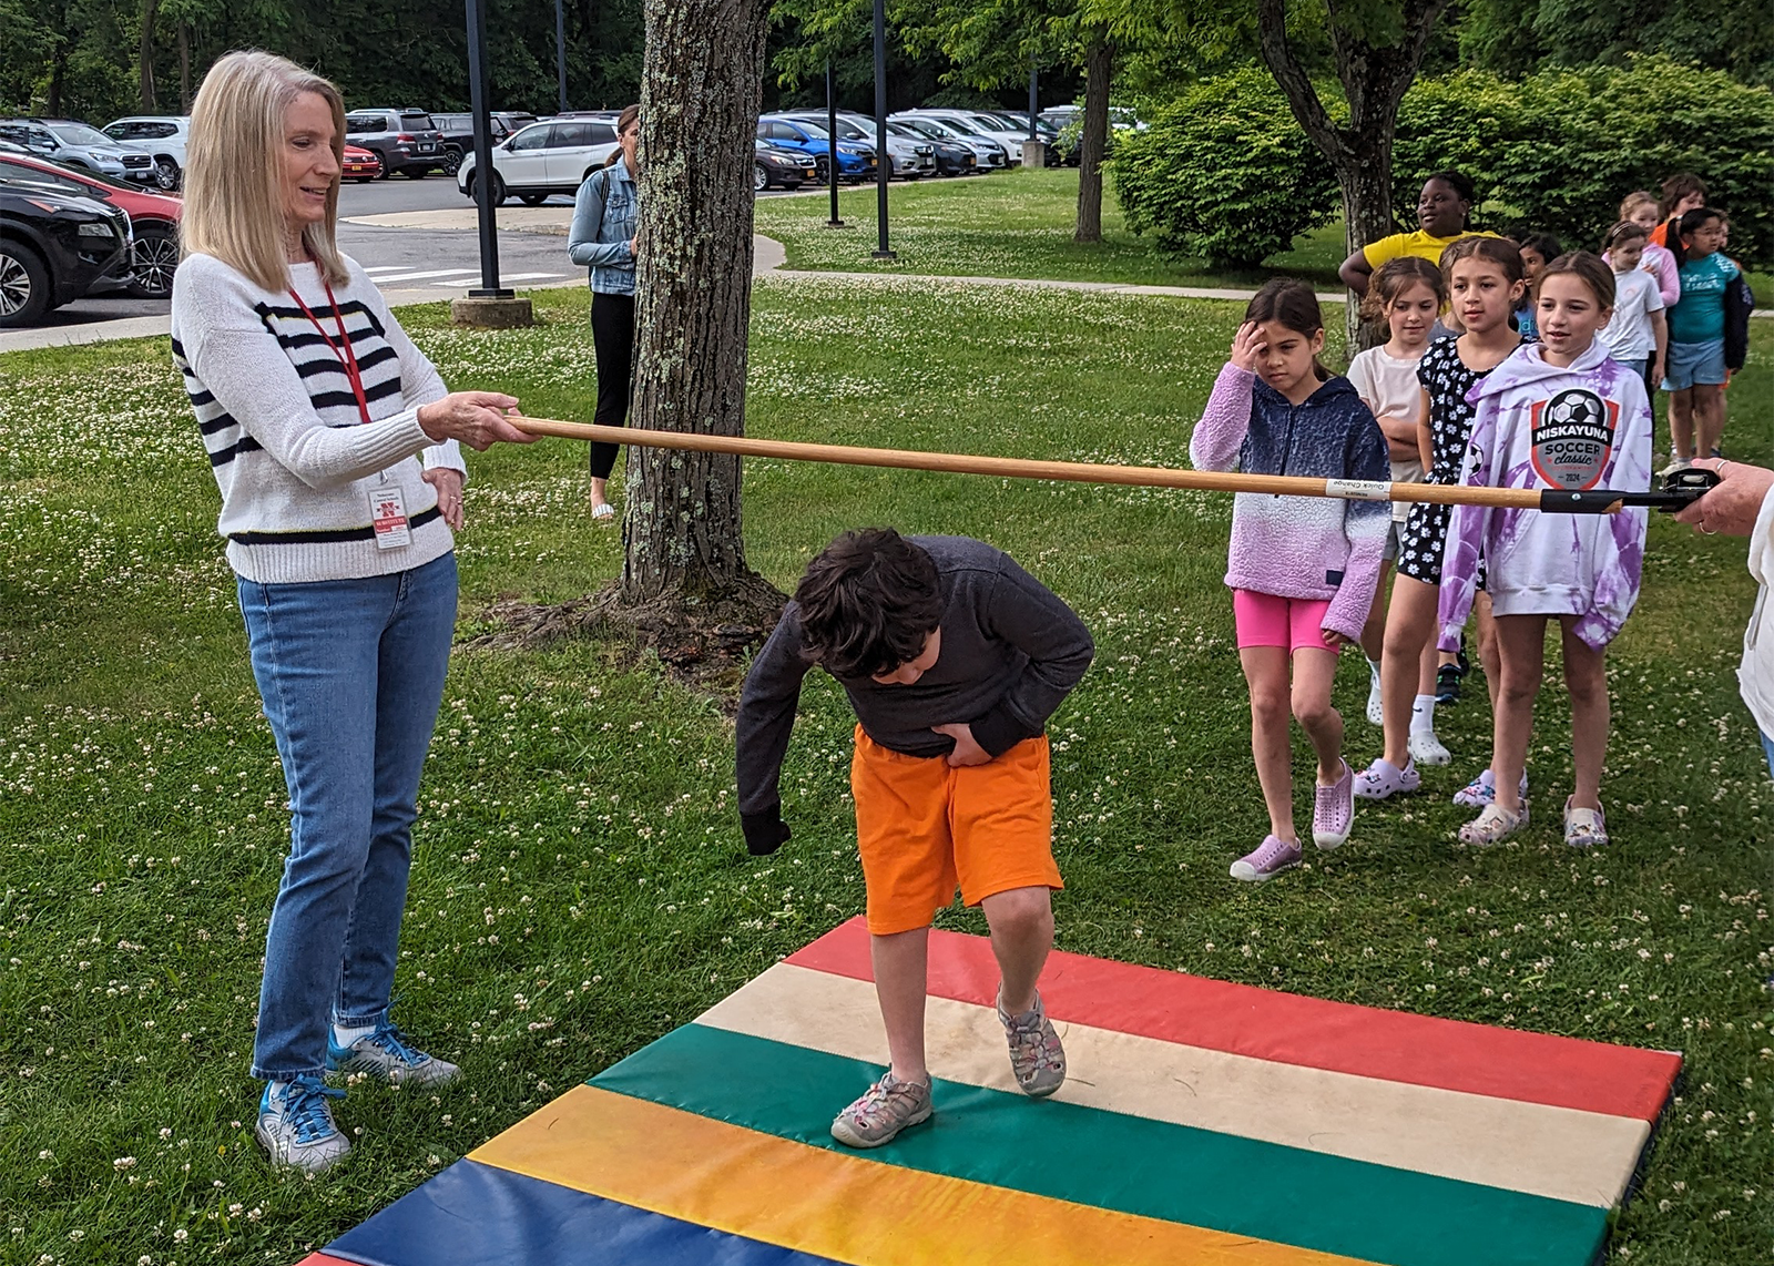
[[[1307,479],[1304,475],[1242,475],[1221,470],[1171,470],[1169,466],[1111,466],[1093,461],[1031,461],[1025,457],[981,457],[960,452],[915,452],[905,449],[853,449],[836,443],[791,443],[750,436],[695,434],[690,431],[642,431],[637,427],[555,422],[511,417],[520,431],[564,440],[727,452],[740,457],[825,461],[843,466],[892,466],[953,475],[999,479],[1057,479],[1075,484],[1130,484],[1135,488],[1194,488],[1215,493],[1274,493],[1277,496],[1332,496],[1350,502],[1432,502],[1440,505],[1495,505],[1565,514],[1613,514],[1621,505],[1676,505],[1673,493],[1618,493],[1605,488],[1558,491],[1535,488],[1472,488],[1467,484],[1394,484],[1366,479]]]

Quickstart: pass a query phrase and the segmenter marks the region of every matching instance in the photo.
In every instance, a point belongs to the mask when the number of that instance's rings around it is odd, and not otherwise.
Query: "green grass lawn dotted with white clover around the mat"
[[[585,293],[536,301],[546,324],[527,332],[456,332],[442,307],[404,319],[454,387],[585,418]],[[1180,465],[1236,316],[766,278],[750,427]],[[1765,363],[1765,337],[1756,351]],[[1744,459],[1774,457],[1762,372],[1731,390]],[[584,516],[584,461],[564,442],[472,459],[463,635],[495,598],[559,599],[614,574],[617,535]],[[1572,853],[1556,833],[1570,784],[1556,681],[1531,754],[1535,824],[1492,851],[1455,844],[1465,812],[1448,794],[1488,743],[1474,679],[1444,713],[1456,761],[1425,778],[1430,794],[1364,810],[1346,848],[1251,888],[1226,878],[1265,814],[1221,585],[1224,498],[763,461],[745,475],[750,557],[782,587],[839,528],[894,523],[990,539],[1084,613],[1096,665],[1052,725],[1064,949],[1680,1048],[1684,1098],[1614,1254],[1774,1261],[1774,849],[1731,674],[1753,601],[1742,543],[1652,525],[1644,598],[1611,654],[1611,848]],[[715,700],[594,642],[458,653],[397,1014],[467,1076],[438,1094],[353,1089],[339,1115],[357,1156],[321,1181],[273,1174],[247,1062],[287,823],[215,509],[163,339],[0,356],[5,1262],[293,1262],[862,908],[850,718],[828,679],[809,677],[784,771],[795,840],[750,862]],[[1378,750],[1364,693],[1352,660],[1338,702],[1354,761]],[[942,922],[983,929],[974,913]]]

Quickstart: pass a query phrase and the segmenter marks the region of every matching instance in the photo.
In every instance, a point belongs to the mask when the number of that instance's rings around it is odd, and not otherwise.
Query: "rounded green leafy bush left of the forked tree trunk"
[[[1148,131],[1119,133],[1107,167],[1134,232],[1215,266],[1260,264],[1338,209],[1329,163],[1254,69],[1203,82]]]

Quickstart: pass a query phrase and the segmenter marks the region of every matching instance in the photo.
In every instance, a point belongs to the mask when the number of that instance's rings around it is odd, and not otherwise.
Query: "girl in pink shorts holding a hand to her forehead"
[[[1231,363],[1189,443],[1197,470],[1318,479],[1391,477],[1385,434],[1346,378],[1318,363],[1318,296],[1304,282],[1268,282],[1233,340]],[[1300,864],[1293,830],[1288,716],[1318,755],[1313,840],[1336,848],[1355,819],[1343,761],[1343,718],[1330,706],[1336,656],[1361,638],[1380,576],[1387,502],[1238,493],[1231,559],[1238,658],[1251,686],[1251,746],[1268,805],[1268,837],[1233,862],[1235,879],[1268,879]]]

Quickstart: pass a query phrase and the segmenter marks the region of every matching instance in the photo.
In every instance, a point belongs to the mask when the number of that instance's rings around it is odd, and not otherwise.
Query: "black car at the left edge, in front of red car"
[[[119,207],[0,183],[0,330],[73,303],[130,255]]]

